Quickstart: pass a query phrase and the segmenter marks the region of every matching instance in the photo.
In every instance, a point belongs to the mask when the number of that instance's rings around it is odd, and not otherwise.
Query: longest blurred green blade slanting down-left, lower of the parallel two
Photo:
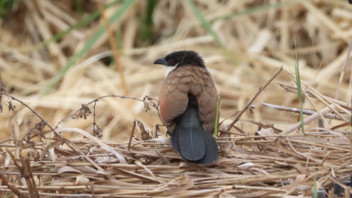
[[[109,23],[112,24],[115,21],[118,21],[122,14],[125,13],[128,8],[135,2],[135,0],[125,0],[119,10],[111,17]],[[58,72],[58,74],[51,80],[48,86],[45,87],[42,95],[49,93],[49,91],[63,78],[66,72],[79,60],[86,52],[92,48],[94,43],[105,33],[105,26],[99,28],[99,30],[87,41],[84,47],[76,52],[71,58],[67,61],[66,65]]]

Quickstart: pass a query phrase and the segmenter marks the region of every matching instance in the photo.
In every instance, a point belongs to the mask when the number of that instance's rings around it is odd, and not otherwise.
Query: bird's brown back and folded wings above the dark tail
[[[166,76],[159,95],[160,115],[168,131],[175,129],[175,118],[187,108],[188,93],[198,102],[199,117],[205,131],[215,127],[218,92],[207,69],[184,65]],[[166,107],[168,107],[166,109]]]

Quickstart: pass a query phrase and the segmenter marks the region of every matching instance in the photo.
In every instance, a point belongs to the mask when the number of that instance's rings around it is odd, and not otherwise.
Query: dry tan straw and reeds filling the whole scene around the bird
[[[352,173],[347,0],[162,0],[151,13],[153,1],[104,1],[101,18],[101,1],[76,2],[20,1],[0,19],[1,197],[293,198],[333,183],[350,190],[342,184]],[[165,74],[152,62],[181,49],[203,56],[221,94],[219,159],[209,166],[183,161],[159,126]]]

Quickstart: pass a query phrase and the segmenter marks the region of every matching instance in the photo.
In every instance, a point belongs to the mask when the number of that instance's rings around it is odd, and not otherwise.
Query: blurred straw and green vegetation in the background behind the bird
[[[99,4],[105,8],[102,15]],[[152,63],[176,50],[194,50],[205,59],[221,94],[220,120],[229,124],[234,117],[228,117],[242,110],[280,66],[294,73],[294,36],[301,80],[351,104],[352,5],[347,0],[0,0],[0,17],[0,71],[7,93],[51,126],[104,95],[158,99],[165,74]],[[296,113],[261,104],[299,108],[297,94],[278,83],[293,81],[281,72],[237,126],[253,133],[257,126],[245,120],[282,130],[297,122]],[[0,139],[11,137],[16,122],[21,134],[35,132],[40,120],[15,101],[14,112],[7,111],[7,100],[1,98]],[[325,107],[313,101],[318,109]],[[306,100],[303,108],[313,109]],[[134,119],[151,132],[161,124],[157,111],[145,112],[137,100],[107,97],[95,110],[103,140],[125,141]],[[92,133],[92,123],[89,115],[65,119],[59,127]],[[316,126],[311,123],[306,131]],[[165,130],[161,127],[161,134]]]

